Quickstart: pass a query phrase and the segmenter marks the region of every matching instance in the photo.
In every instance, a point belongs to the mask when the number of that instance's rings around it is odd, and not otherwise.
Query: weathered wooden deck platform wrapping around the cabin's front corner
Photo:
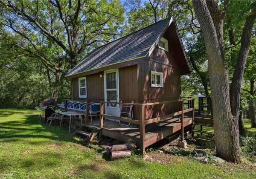
[[[184,127],[192,124],[192,118],[184,118]],[[100,127],[99,120],[93,119],[89,124],[84,124],[88,127]],[[148,147],[155,142],[172,135],[181,129],[179,118],[169,118],[155,123],[145,125],[145,147]],[[130,124],[129,126],[120,125],[118,122],[104,120],[102,127],[102,135],[113,139],[126,142],[128,139],[136,141],[140,145],[140,126]]]

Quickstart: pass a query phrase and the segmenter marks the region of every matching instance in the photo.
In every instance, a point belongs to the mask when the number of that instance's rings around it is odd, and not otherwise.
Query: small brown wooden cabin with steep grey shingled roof
[[[108,101],[102,114],[119,116],[121,100],[149,104],[181,99],[180,76],[190,71],[174,17],[169,17],[94,49],[67,73],[66,79],[72,81],[73,98]],[[140,107],[133,107],[134,121],[158,118],[154,122],[181,110],[179,101],[145,105],[144,115]]]

